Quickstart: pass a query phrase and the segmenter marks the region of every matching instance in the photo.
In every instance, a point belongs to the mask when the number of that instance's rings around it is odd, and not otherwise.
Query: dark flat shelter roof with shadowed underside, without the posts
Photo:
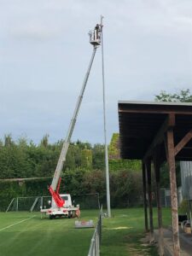
[[[159,144],[161,158],[166,160],[162,135],[166,136],[170,125],[167,125],[167,117],[174,119],[175,146],[192,130],[192,103],[120,101],[118,107],[119,143],[123,159],[143,160],[146,154],[152,156],[153,147]],[[176,154],[176,159],[192,160],[191,140]]]

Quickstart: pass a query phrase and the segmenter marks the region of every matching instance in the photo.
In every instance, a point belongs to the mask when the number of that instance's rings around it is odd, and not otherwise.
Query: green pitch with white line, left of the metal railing
[[[82,218],[96,223],[97,212],[84,211]],[[86,255],[94,229],[74,229],[75,220],[41,219],[38,212],[0,213],[0,255]]]

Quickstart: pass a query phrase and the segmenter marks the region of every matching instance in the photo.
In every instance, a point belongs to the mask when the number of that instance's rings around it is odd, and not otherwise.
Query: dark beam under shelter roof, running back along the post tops
[[[165,137],[166,131],[175,125],[175,113],[167,114],[164,123],[160,126],[160,130],[156,133],[153,142],[148,147],[146,154],[143,157],[143,161],[147,160],[153,154],[156,145],[162,143]]]

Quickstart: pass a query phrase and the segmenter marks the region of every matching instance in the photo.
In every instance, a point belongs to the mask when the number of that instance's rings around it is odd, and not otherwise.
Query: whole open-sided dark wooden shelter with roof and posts
[[[192,160],[192,104],[119,102],[119,138],[121,157],[143,162],[145,229],[148,230],[149,212],[151,240],[154,239],[151,163],[154,164],[160,255],[164,255],[160,207],[160,165],[167,160],[172,201],[173,251],[174,256],[180,255],[175,161]],[[147,193],[149,211],[147,211]]]

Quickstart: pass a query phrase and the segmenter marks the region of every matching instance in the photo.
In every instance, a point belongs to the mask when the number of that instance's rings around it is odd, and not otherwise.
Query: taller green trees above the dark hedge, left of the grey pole
[[[26,138],[20,137],[14,141],[6,135],[0,141],[0,178],[12,177],[50,177],[55,171],[63,141],[49,143],[45,135],[41,142],[27,143]],[[103,170],[104,147],[102,144],[71,143],[64,166],[66,170],[82,169]]]

